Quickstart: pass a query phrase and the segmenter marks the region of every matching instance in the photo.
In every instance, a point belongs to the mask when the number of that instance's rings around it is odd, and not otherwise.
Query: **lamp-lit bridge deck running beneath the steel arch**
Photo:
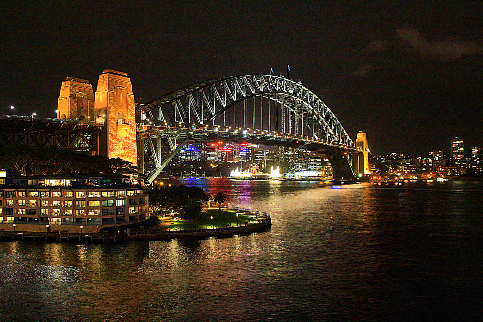
[[[261,131],[265,132],[265,131]],[[323,154],[337,154],[340,152],[359,153],[361,150],[354,146],[347,146],[315,138],[302,137],[301,135],[262,134],[260,131],[248,130],[220,130],[219,128],[186,128],[172,126],[136,125],[137,135],[145,138],[193,141],[220,141],[224,143],[252,143],[258,145],[282,146],[314,151]]]

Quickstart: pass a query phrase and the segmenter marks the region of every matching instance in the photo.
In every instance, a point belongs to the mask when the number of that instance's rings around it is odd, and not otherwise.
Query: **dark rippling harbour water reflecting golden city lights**
[[[165,183],[225,191],[272,227],[0,241],[0,321],[483,321],[483,182]]]

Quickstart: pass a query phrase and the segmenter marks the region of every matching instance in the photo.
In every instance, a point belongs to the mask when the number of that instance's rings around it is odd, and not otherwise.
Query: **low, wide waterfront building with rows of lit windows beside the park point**
[[[110,172],[7,177],[0,181],[0,228],[98,232],[143,221],[147,189],[127,179]]]

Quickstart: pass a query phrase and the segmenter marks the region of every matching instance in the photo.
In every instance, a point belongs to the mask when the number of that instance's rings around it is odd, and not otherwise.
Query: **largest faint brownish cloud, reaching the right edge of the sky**
[[[430,41],[416,28],[410,26],[398,28],[397,34],[406,49],[414,51],[422,57],[452,60],[483,53],[482,45],[477,42],[455,37],[447,37],[440,41]]]

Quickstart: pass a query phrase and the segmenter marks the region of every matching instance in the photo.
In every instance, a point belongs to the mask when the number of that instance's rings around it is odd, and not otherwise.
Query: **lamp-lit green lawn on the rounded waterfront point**
[[[213,216],[213,219],[210,217]],[[238,223],[246,224],[247,221],[254,221],[253,218],[239,214]],[[225,210],[205,210],[201,212],[201,219],[195,220],[194,224],[191,224],[191,220],[176,220],[176,224],[170,224],[170,229],[190,229],[190,228],[221,228],[227,227],[227,224],[236,225],[237,216],[235,212],[225,211]]]

